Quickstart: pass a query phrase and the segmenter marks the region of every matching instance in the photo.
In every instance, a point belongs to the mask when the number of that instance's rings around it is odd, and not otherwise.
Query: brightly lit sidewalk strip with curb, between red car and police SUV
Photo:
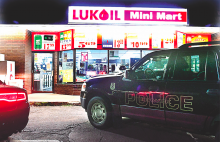
[[[28,94],[28,101],[33,106],[81,105],[80,95],[63,95],[54,93]]]

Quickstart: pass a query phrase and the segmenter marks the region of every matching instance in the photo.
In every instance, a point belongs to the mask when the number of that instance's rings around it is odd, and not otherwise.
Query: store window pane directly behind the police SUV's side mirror
[[[121,65],[132,67],[140,60],[140,50],[109,50],[109,73],[120,72]]]

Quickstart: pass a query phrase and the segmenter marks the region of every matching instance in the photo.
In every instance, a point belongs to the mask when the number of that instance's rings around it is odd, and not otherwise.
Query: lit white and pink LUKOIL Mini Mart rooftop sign
[[[186,9],[69,6],[69,24],[139,23],[187,25]]]

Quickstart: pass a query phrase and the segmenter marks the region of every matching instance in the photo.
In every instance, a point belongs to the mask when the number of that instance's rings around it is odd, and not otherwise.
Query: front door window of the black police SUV
[[[147,58],[136,70],[137,79],[162,80],[166,71],[170,53],[162,53]]]

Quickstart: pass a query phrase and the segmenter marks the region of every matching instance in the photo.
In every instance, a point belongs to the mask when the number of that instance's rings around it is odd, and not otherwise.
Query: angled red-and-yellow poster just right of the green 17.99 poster
[[[60,51],[73,49],[73,30],[60,32]]]

